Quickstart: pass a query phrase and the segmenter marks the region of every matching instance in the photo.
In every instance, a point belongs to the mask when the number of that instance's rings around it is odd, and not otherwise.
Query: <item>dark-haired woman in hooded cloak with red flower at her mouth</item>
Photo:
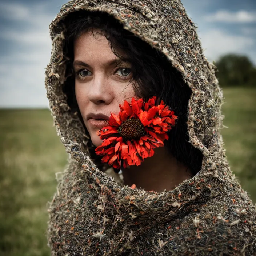
[[[255,206],[225,159],[215,67],[181,3],[70,1],[50,28],[45,84],[71,156],[52,255],[253,255]]]

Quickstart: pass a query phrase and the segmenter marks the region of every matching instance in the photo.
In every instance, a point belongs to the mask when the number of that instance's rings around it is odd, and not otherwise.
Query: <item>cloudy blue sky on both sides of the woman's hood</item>
[[[0,107],[48,107],[48,26],[65,0],[0,0]],[[247,55],[256,65],[255,0],[183,0],[206,57]]]

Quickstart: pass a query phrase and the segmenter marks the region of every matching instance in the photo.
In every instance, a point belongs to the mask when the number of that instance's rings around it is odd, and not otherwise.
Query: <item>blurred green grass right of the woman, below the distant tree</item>
[[[221,133],[231,170],[256,202],[256,88],[225,88]]]

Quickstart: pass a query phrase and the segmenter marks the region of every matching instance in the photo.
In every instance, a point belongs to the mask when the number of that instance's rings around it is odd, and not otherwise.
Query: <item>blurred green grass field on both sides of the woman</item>
[[[256,202],[256,89],[224,90],[231,169]],[[48,110],[0,110],[0,255],[49,255],[47,202],[67,161]]]

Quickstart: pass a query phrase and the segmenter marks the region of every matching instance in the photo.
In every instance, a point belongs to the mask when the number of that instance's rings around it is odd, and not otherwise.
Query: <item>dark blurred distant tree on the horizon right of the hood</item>
[[[256,67],[247,56],[228,54],[215,63],[221,87],[256,85]]]

